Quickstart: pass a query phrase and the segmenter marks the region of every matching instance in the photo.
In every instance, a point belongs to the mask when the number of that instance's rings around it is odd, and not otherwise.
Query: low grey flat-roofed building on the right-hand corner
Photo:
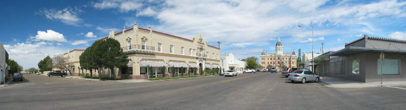
[[[384,53],[383,59],[381,52]],[[382,71],[384,81],[406,80],[406,65],[401,65],[406,64],[406,61],[402,60],[406,59],[405,40],[364,35],[346,43],[344,49],[327,52],[320,57],[324,57],[327,62],[318,64],[316,73],[324,73],[326,76],[377,82],[381,81]],[[320,71],[321,69],[324,71]]]

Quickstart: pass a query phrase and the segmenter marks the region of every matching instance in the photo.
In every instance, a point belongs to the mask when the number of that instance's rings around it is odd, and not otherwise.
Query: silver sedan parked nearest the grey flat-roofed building
[[[295,81],[300,81],[302,84],[306,83],[307,81],[314,81],[314,82],[319,82],[320,77],[319,75],[313,73],[309,69],[301,69],[301,70],[296,70],[293,71],[292,73],[289,73],[288,80],[295,82]]]

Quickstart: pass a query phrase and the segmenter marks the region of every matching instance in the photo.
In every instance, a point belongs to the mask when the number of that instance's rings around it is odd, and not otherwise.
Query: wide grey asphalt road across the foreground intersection
[[[406,109],[404,89],[329,88],[280,73],[141,83],[24,78],[0,91],[0,109]]]

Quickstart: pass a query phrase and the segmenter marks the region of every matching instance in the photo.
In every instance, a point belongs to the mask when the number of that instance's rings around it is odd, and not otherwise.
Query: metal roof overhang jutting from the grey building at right
[[[384,52],[384,53],[406,54],[406,50],[349,46],[349,47],[346,47],[344,49],[341,49],[341,50],[338,50],[338,51],[332,53],[330,56],[345,57],[345,56],[349,56],[351,54],[356,54],[359,52]]]

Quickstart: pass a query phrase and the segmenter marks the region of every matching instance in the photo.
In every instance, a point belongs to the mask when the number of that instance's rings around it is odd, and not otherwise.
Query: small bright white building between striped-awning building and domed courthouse
[[[246,63],[244,61],[240,61],[238,58],[235,58],[234,54],[232,53],[225,53],[220,55],[220,66],[223,67],[221,69],[222,72],[227,70],[235,70],[238,73],[243,73]]]

